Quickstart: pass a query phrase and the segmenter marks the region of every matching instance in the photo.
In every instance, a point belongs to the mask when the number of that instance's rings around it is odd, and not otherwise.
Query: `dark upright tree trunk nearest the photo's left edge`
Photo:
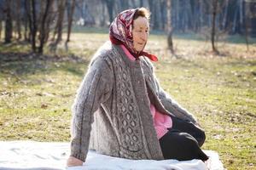
[[[13,24],[12,24],[12,15],[11,15],[11,0],[5,1],[5,43],[10,43],[13,34]]]

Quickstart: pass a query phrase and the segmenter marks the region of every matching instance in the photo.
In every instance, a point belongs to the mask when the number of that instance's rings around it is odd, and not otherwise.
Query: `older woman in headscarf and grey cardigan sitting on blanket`
[[[110,41],[98,49],[73,104],[71,155],[81,166],[89,149],[128,159],[201,159],[205,133],[195,116],[160,88],[144,50],[149,12],[128,9],[113,20]]]

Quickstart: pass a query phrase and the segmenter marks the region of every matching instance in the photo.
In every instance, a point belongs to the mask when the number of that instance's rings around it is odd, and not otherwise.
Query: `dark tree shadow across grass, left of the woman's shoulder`
[[[48,74],[54,71],[66,71],[74,76],[82,77],[89,61],[75,55],[48,56],[26,53],[0,53],[0,70],[3,77],[26,77],[38,74]]]

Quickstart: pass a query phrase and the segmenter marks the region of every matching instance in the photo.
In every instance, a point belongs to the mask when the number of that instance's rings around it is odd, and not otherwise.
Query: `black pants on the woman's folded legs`
[[[200,148],[205,139],[200,127],[172,116],[172,128],[160,138],[160,147],[165,159],[206,161],[208,156]]]

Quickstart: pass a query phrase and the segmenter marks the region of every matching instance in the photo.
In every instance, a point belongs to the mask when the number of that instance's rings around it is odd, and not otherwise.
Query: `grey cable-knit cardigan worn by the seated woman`
[[[150,103],[163,114],[195,117],[168,96],[145,57],[131,61],[106,42],[81,82],[72,112],[71,156],[85,161],[89,149],[108,156],[162,160]]]

